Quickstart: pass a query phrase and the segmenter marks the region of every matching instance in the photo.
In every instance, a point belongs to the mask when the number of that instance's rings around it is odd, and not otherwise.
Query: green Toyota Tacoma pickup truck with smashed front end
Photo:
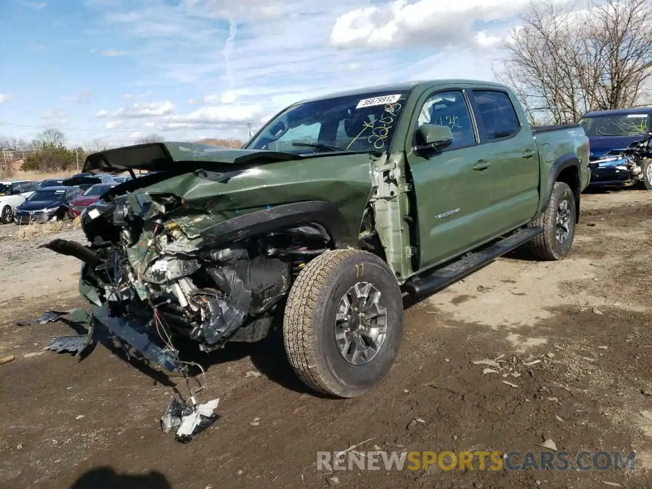
[[[530,127],[503,85],[372,87],[293,104],[243,149],[90,155],[83,171],[149,173],[84,211],[89,245],[45,246],[83,261],[95,324],[168,370],[186,372],[179,337],[213,351],[280,327],[304,383],[353,397],[396,358],[404,293],[519,246],[567,256],[588,163],[580,126]]]

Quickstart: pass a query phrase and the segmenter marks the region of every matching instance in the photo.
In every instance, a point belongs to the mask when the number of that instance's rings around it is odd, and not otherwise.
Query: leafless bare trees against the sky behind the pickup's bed
[[[520,20],[494,74],[511,85],[531,123],[574,123],[590,110],[649,99],[649,0],[590,0],[585,10],[549,1]]]

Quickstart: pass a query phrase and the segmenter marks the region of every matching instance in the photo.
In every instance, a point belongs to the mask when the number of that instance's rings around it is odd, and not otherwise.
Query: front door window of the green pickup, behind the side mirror
[[[429,96],[421,108],[415,130],[423,124],[451,129],[453,140],[446,151],[475,144],[471,115],[462,91],[452,90]]]

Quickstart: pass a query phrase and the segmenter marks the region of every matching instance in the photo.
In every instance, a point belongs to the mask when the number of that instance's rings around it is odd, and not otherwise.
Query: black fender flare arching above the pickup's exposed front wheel
[[[357,248],[357,237],[351,235],[346,219],[333,203],[312,200],[276,205],[228,219],[200,233],[212,246],[265,235],[283,228],[315,222],[331,237],[335,248]]]

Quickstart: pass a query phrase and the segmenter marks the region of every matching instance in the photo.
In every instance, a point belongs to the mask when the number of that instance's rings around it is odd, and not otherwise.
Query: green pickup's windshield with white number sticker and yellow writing
[[[387,151],[408,95],[383,91],[304,102],[274,117],[245,149]]]

